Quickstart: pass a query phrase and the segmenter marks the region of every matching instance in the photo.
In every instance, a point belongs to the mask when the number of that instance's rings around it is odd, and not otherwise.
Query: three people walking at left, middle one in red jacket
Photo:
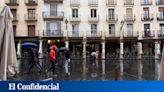
[[[40,73],[43,73],[42,71],[42,67],[39,63],[39,54],[38,54],[38,50],[36,48],[30,48],[31,51],[31,58],[30,58],[30,66],[29,66],[29,70],[28,73],[31,71],[31,69],[36,66],[36,68],[39,70]],[[56,45],[52,45],[50,47],[49,53],[48,53],[48,61],[51,63],[51,67],[49,69],[47,69],[45,72],[50,72],[52,71],[52,77],[56,77],[57,73],[55,72],[56,70],[56,64],[58,63],[57,58],[60,57],[60,52],[62,52],[64,54],[65,57],[65,61],[64,61],[64,69],[65,69],[65,73],[66,76],[70,76],[70,71],[68,69],[69,67],[69,63],[70,63],[70,53],[68,49],[60,49],[58,48]]]

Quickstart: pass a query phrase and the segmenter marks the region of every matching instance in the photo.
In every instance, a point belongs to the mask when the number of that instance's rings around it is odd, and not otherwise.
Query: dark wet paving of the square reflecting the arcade
[[[40,74],[36,67],[33,67],[32,71],[28,73],[30,59],[24,57],[22,59],[18,59],[19,62],[19,74],[14,78],[9,78],[9,80],[45,80],[51,79],[52,74],[51,71],[46,73],[46,69],[51,67],[48,58],[44,57],[40,59],[40,64],[42,65],[43,72]],[[90,64],[89,59],[84,61],[80,57],[71,58],[71,75],[68,77],[64,72],[64,60],[59,59],[58,65],[56,65],[56,73],[57,76],[55,80],[114,80],[116,75],[116,66],[119,65],[119,59],[107,58],[105,60],[105,75],[102,75],[102,64],[101,60],[99,60],[99,66],[96,68],[92,64]],[[83,67],[83,62],[86,62],[86,67]],[[133,57],[131,59],[124,60],[124,80],[138,80],[138,70],[137,70],[137,58]],[[154,63],[151,62],[143,62],[143,80],[154,80]],[[85,69],[84,69],[85,68]],[[85,71],[84,71],[85,70]]]

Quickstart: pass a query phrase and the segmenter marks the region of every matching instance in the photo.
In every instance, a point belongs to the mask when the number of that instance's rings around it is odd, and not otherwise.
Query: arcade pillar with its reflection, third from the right
[[[123,80],[123,76],[124,76],[123,54],[124,54],[124,43],[123,41],[120,41],[120,80]]]

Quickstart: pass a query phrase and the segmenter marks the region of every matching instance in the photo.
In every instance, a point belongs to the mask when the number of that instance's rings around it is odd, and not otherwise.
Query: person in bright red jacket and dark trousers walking
[[[52,70],[53,77],[56,76],[56,74],[55,74],[55,64],[57,62],[56,61],[56,49],[57,49],[56,45],[51,46],[50,53],[49,53],[49,61],[51,62],[51,68],[49,68],[47,70],[47,72]]]

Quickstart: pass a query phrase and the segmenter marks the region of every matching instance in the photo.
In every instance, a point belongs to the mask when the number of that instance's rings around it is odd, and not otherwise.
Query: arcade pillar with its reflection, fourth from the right
[[[102,74],[105,75],[105,41],[102,42]]]

